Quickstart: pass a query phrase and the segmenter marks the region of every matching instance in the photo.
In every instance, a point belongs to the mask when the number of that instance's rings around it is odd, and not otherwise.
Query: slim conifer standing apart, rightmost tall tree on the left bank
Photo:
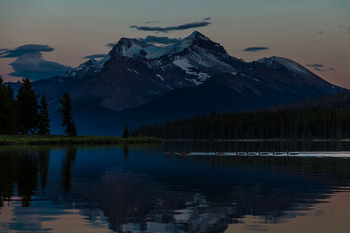
[[[60,112],[60,115],[62,117],[62,123],[61,126],[65,127],[64,133],[68,136],[76,136],[76,128],[75,123],[73,120],[73,114],[71,113],[71,99],[68,93],[63,94],[63,99],[60,99],[59,102],[61,103],[62,107],[58,109],[58,112]]]

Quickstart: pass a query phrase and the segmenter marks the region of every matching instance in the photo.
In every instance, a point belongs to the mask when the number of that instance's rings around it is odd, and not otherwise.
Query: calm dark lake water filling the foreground
[[[0,147],[0,232],[348,233],[349,151],[334,141]]]

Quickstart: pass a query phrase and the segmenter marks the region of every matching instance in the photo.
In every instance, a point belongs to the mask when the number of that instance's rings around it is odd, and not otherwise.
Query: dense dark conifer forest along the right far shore
[[[196,115],[142,125],[130,131],[163,139],[343,139],[350,138],[350,92],[266,109]]]

